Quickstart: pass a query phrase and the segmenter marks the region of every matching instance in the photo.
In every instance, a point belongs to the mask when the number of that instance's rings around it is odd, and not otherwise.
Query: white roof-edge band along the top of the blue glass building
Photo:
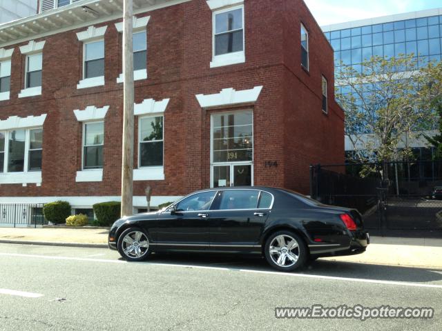
[[[407,19],[421,19],[423,17],[431,17],[442,15],[442,8],[435,8],[429,10],[420,10],[417,12],[404,12],[401,14],[394,14],[382,17],[373,17],[371,19],[359,19],[357,21],[349,21],[343,23],[329,24],[321,26],[323,32],[343,30],[349,28],[359,28],[361,26],[372,26],[374,24],[391,23],[395,21],[405,21]]]

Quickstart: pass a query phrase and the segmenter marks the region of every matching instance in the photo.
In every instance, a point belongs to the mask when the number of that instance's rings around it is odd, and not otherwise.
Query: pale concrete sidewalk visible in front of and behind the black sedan
[[[107,247],[108,230],[88,228],[0,228],[0,243]],[[367,251],[328,260],[442,270],[442,239],[371,237]]]

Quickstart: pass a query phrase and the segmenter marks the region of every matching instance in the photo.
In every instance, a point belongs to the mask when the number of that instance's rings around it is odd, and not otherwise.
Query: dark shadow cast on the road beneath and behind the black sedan
[[[227,268],[229,270],[256,270],[277,272],[261,257],[220,254],[151,254],[144,263],[186,265],[188,267]],[[298,271],[328,277],[372,279],[378,281],[403,281],[427,283],[442,281],[442,270],[410,268],[396,265],[376,265],[318,259]]]

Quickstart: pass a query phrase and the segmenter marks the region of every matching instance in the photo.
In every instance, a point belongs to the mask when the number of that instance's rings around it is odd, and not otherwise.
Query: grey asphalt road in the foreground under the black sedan
[[[386,252],[387,254],[387,252]],[[20,291],[20,292],[11,292]],[[25,292],[25,293],[23,293]],[[26,297],[34,296],[34,297]],[[276,319],[276,307],[432,307],[432,319]],[[0,244],[0,330],[441,330],[442,270]]]

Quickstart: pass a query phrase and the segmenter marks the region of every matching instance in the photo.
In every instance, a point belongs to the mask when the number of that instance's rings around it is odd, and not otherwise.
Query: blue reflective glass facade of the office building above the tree
[[[419,66],[441,61],[442,16],[407,19],[358,28],[325,32],[334,49],[336,79],[340,61],[361,72],[361,62],[372,56],[398,57],[414,54]]]

